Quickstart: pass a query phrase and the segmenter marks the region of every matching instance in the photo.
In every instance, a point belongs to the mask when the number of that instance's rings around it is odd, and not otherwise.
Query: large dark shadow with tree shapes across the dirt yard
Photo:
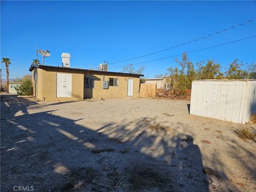
[[[29,113],[30,107],[38,106],[2,97],[2,191],[209,191],[201,151],[193,135],[182,133],[185,124],[144,117],[92,130],[80,119]]]

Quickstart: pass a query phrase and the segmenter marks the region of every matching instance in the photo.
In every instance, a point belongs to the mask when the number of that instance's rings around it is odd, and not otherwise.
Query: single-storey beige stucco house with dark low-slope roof
[[[31,65],[34,95],[40,100],[139,97],[140,76],[110,71]]]

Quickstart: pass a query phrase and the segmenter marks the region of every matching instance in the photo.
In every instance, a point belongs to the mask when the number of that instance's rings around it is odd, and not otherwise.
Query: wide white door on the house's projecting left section
[[[71,74],[57,73],[57,97],[71,97]]]

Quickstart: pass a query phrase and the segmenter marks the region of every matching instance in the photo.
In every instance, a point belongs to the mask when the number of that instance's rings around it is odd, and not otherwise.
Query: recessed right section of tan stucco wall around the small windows
[[[86,76],[93,76],[94,88],[84,89],[84,98],[134,98],[139,97],[140,91],[140,78],[134,77],[133,75],[110,75],[105,74],[104,79],[109,81],[110,77],[118,78],[118,86],[109,86],[108,89],[102,89],[103,75],[97,73],[85,73]],[[133,96],[127,97],[127,79],[133,79]]]

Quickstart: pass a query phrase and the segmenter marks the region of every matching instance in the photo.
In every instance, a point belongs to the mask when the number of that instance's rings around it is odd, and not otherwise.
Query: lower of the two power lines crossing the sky
[[[210,47],[205,47],[205,48],[203,48],[203,49],[199,49],[199,50],[195,50],[195,51],[189,51],[189,52],[186,52],[186,53],[195,53],[195,52],[198,52],[198,51],[203,51],[203,50],[206,50],[206,49],[211,49],[211,48],[213,48],[213,47],[218,47],[218,46],[227,45],[227,44],[230,44],[230,43],[235,43],[235,42],[243,41],[243,40],[245,40],[245,39],[249,39],[249,38],[253,38],[253,37],[256,37],[256,35],[250,36],[250,37],[246,37],[246,38],[242,38],[242,39],[238,39],[238,40],[231,41],[231,42],[227,42],[227,43],[221,43],[221,44],[218,44],[218,45],[214,45],[214,46],[210,46]],[[143,64],[143,63],[147,63],[147,62],[159,61],[159,60],[163,60],[163,59],[168,59],[168,58],[177,57],[177,56],[180,56],[180,55],[182,55],[182,54],[183,54],[183,53],[180,53],[180,54],[177,54],[177,55],[172,55],[172,56],[169,56],[169,57],[164,57],[164,58],[159,58],[159,59],[154,59],[154,60],[139,62],[139,63],[135,63],[135,64],[129,64],[129,65],[139,65],[139,64]],[[129,65],[123,65],[123,66],[118,66],[118,67],[111,67],[111,68],[109,68],[109,69],[114,69],[114,68],[119,68],[119,67],[126,67],[126,66],[129,66]]]

